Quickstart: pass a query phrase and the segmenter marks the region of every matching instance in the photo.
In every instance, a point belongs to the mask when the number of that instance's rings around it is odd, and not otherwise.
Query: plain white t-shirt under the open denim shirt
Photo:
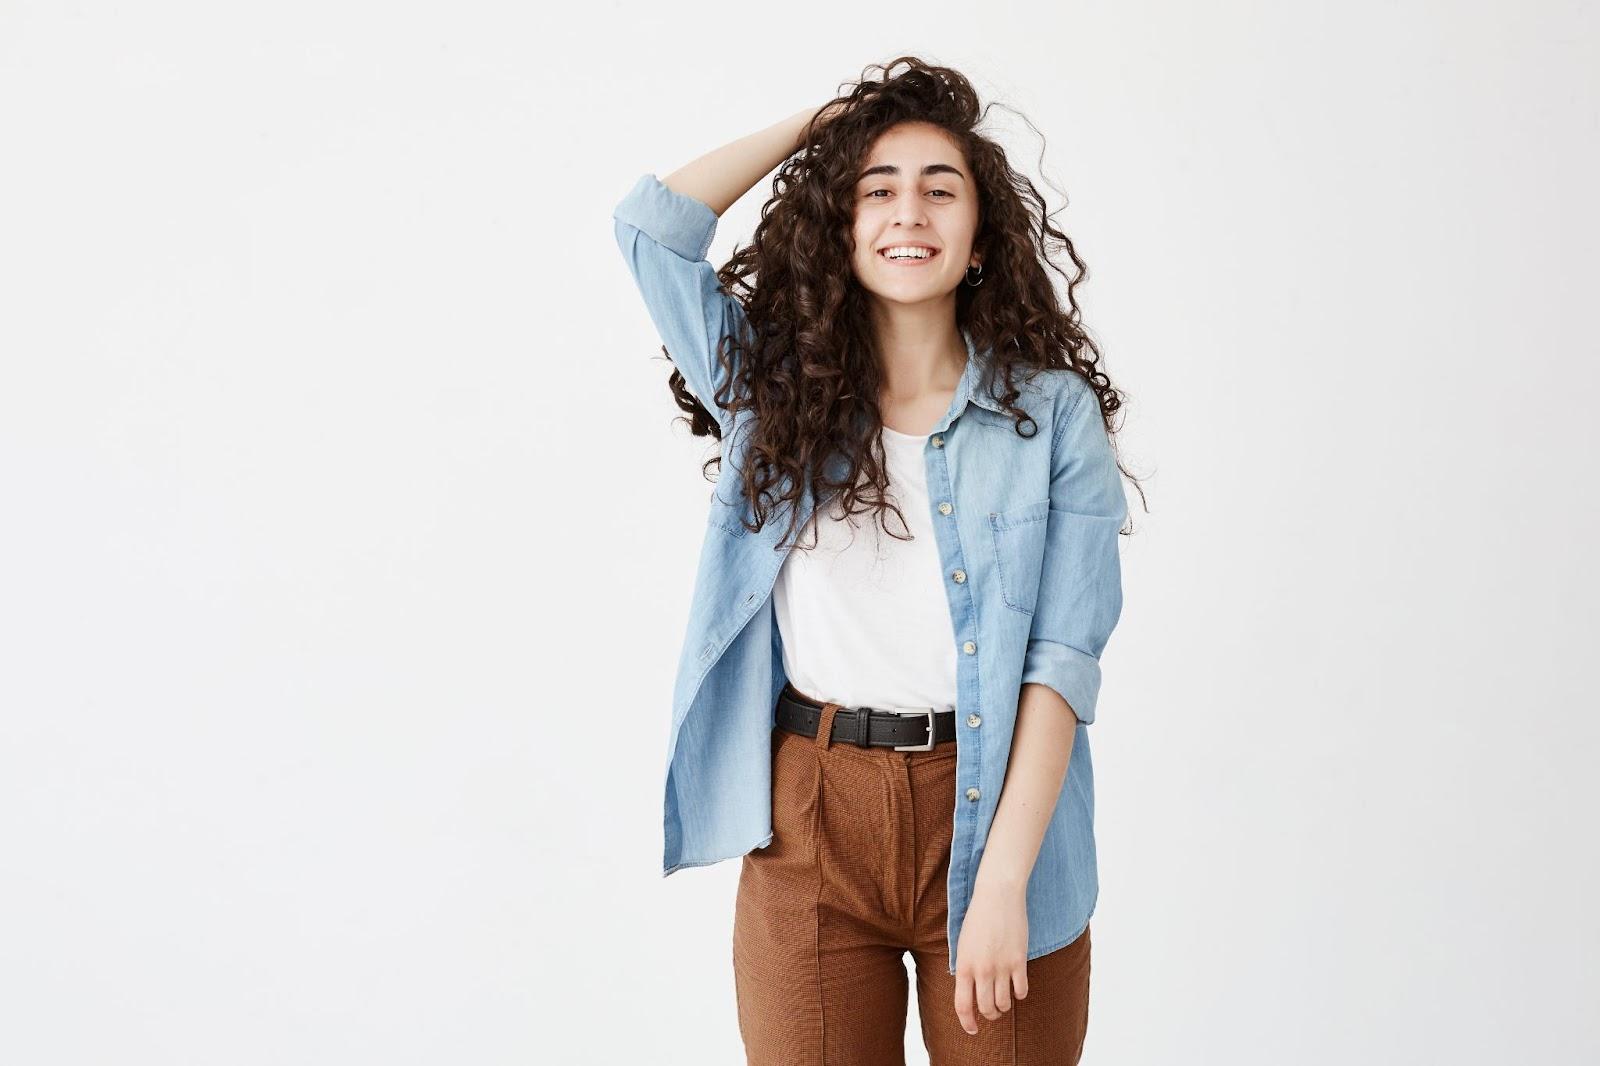
[[[955,706],[955,627],[933,535],[926,437],[883,426],[888,495],[906,517],[842,519],[818,511],[816,547],[789,552],[773,587],[789,682],[814,699],[854,706]],[[800,544],[810,544],[803,531]]]

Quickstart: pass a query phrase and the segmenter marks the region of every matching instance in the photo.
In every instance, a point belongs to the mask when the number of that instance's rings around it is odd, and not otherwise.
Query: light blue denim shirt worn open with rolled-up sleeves
[[[712,399],[725,384],[717,343],[744,315],[706,259],[717,214],[646,173],[613,219],[656,331],[723,431],[723,469],[710,493],[672,691],[662,856],[662,876],[670,876],[773,840],[773,706],[786,680],[773,586],[787,555],[773,547],[789,515],[776,512],[757,533],[739,522],[754,514],[739,493],[754,413],[730,418]],[[1128,507],[1088,383],[1075,371],[1050,370],[1021,384],[1016,403],[1038,426],[1034,437],[1021,437],[982,387],[987,352],[976,351],[965,330],[963,336],[966,373],[923,447],[955,626],[950,973],[1027,682],[1061,693],[1078,719],[1067,776],[1027,880],[1027,957],[1074,941],[1094,912],[1099,880],[1086,727],[1099,696],[1099,656],[1122,613],[1117,531]],[[802,520],[811,509],[806,487]]]

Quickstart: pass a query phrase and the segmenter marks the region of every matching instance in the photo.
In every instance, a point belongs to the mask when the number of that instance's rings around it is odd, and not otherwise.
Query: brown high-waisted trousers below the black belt
[[[814,738],[773,728],[773,842],[742,860],[733,924],[749,1064],[904,1066],[907,951],[931,1066],[1075,1064],[1088,928],[1029,960],[1026,999],[962,1029],[946,943],[955,741],[830,743],[838,709],[822,704]]]

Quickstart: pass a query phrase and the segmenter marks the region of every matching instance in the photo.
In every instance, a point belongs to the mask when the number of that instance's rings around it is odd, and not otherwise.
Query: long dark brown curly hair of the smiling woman
[[[874,72],[882,77],[872,77]],[[1026,381],[1043,368],[1072,368],[1094,389],[1115,450],[1114,416],[1123,395],[1101,370],[1099,349],[1080,325],[1074,298],[1088,267],[1072,240],[1051,222],[1034,182],[1014,171],[1002,147],[976,130],[982,117],[978,93],[950,67],[914,56],[869,66],[859,82],[806,125],[800,150],[773,176],[773,195],[762,206],[750,243],[717,271],[723,291],[744,307],[747,328],[746,336],[726,336],[718,346],[728,384],[712,402],[730,413],[754,410],[739,464],[750,512],[746,528],[760,530],[774,509],[789,511],[779,547],[795,533],[794,504],[805,480],[814,501],[842,491],[838,503],[846,514],[872,512],[883,523],[893,509],[904,527],[904,514],[886,495],[878,437],[882,370],[867,314],[869,293],[851,267],[859,166],[877,138],[902,122],[944,130],[962,147],[976,181],[973,246],[984,256],[984,283],[957,285],[957,327],[971,338],[974,351],[989,349],[995,399],[1013,415],[1016,432],[1022,437],[1037,432],[1027,411],[1014,407],[1021,395],[1018,378]],[[1072,261],[1074,274],[1054,262],[1058,253]],[[1066,307],[1050,271],[1066,277]],[[667,387],[685,411],[690,432],[722,442],[718,419],[690,392],[677,368]],[[720,453],[709,458],[702,472],[720,469],[722,458]],[[830,477],[829,466],[843,474]],[[1117,466],[1138,485],[1120,458]]]

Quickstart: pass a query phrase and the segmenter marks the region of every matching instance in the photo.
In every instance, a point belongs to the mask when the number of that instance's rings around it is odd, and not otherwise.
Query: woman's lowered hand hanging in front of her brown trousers
[[[978,1015],[995,1020],[1011,1010],[1011,991],[1027,996],[1027,885],[973,887],[955,944],[955,1015],[978,1032]]]

